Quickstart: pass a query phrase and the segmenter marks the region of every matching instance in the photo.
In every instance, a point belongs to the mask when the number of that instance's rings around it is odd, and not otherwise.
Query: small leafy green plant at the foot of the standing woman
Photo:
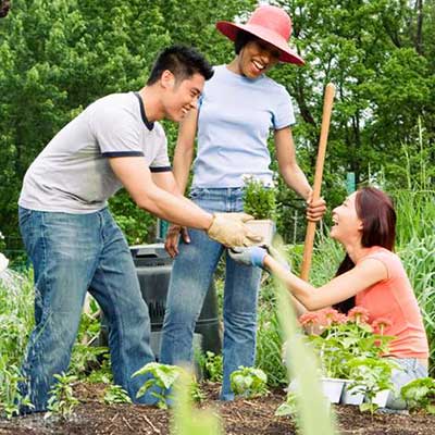
[[[231,374],[229,381],[231,388],[237,396],[253,398],[268,393],[268,376],[260,369],[240,365]]]

